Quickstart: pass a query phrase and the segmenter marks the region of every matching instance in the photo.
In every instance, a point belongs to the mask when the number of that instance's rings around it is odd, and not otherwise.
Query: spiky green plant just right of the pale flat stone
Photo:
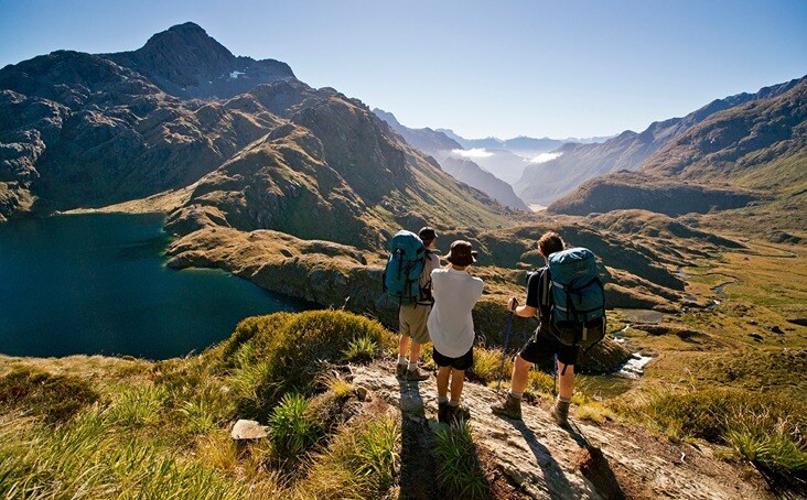
[[[295,460],[316,443],[320,427],[309,417],[308,400],[304,395],[289,393],[275,407],[269,419],[269,438],[277,458]]]

